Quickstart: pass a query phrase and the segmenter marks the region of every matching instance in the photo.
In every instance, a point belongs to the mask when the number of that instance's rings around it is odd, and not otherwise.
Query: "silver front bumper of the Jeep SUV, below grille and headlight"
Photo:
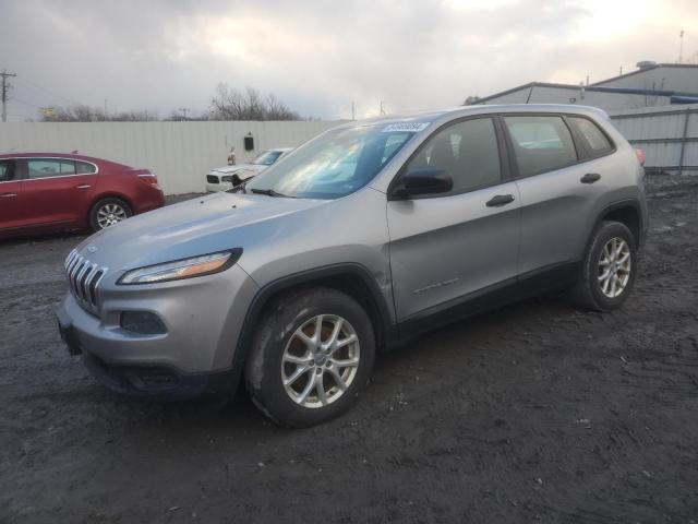
[[[215,275],[141,286],[100,288],[100,315],[69,293],[56,310],[71,355],[120,393],[191,397],[234,388],[226,382],[238,335],[257,286],[239,266]],[[121,326],[123,311],[147,311],[166,333],[139,334]]]

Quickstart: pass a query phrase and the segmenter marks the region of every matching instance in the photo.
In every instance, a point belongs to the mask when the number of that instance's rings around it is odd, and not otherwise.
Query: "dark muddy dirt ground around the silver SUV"
[[[0,243],[0,522],[698,522],[698,178],[648,190],[621,311],[544,298],[425,335],[302,431],[104,390],[52,317],[82,237]]]

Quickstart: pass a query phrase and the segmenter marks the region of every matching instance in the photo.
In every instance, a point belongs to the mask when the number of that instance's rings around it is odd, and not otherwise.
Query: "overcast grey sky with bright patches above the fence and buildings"
[[[9,112],[207,110],[226,82],[306,117],[461,104],[698,55],[698,0],[0,0]]]

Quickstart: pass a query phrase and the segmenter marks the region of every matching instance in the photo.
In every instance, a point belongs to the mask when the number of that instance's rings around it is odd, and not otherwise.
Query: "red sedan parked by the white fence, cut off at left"
[[[99,230],[163,205],[147,169],[75,154],[0,155],[0,238]]]

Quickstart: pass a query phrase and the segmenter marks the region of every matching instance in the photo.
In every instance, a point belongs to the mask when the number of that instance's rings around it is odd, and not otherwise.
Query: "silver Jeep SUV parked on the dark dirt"
[[[643,170],[605,114],[470,106],[350,122],[232,190],[70,253],[71,354],[119,392],[233,395],[275,421],[345,412],[377,348],[544,291],[606,311],[647,230]]]

